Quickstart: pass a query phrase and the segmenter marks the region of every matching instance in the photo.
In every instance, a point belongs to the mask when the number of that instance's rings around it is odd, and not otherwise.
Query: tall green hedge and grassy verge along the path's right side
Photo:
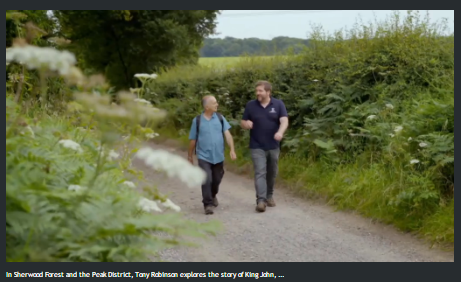
[[[214,94],[244,165],[248,132],[238,124],[254,83],[268,80],[290,117],[284,182],[434,243],[453,243],[454,34],[445,27],[396,12],[334,36],[317,28],[299,55],[178,67],[147,83],[143,97],[168,110],[164,131],[186,138],[200,98]]]

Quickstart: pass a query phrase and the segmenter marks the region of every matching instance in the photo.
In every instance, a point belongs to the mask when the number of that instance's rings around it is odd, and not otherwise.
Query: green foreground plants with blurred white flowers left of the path
[[[186,160],[140,148],[156,136],[150,127],[162,110],[131,93],[118,93],[114,103],[109,94],[80,91],[89,78],[71,53],[21,45],[7,49],[6,59],[73,79],[79,88],[68,111],[53,116],[42,110],[27,117],[15,94],[7,95],[7,261],[149,261],[188,243],[183,236],[216,230],[215,223],[183,219],[181,208],[131,165],[138,158],[188,187],[204,181]]]

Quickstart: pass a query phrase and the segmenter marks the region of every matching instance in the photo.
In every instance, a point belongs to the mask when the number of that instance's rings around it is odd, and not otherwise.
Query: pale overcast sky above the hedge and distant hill
[[[429,12],[432,21],[448,19],[454,31],[454,10],[420,10],[422,16]],[[400,13],[406,13],[401,10]],[[225,10],[218,16],[218,35],[212,37],[258,37],[272,39],[277,36],[308,38],[311,23],[322,25],[325,31],[334,32],[352,27],[358,17],[367,23],[384,20],[390,10]]]

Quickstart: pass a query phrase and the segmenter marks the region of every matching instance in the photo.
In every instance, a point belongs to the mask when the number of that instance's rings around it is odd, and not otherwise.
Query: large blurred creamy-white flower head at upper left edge
[[[60,75],[68,75],[77,60],[68,51],[26,45],[6,49],[6,62],[21,62],[28,69],[46,68]]]

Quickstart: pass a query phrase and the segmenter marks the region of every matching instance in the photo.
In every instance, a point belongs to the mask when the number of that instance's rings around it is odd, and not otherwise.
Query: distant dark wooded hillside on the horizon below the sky
[[[275,37],[272,40],[259,38],[238,39],[233,37],[207,38],[200,50],[201,57],[236,57],[240,55],[270,56],[292,49],[295,53],[309,44],[308,39]]]

